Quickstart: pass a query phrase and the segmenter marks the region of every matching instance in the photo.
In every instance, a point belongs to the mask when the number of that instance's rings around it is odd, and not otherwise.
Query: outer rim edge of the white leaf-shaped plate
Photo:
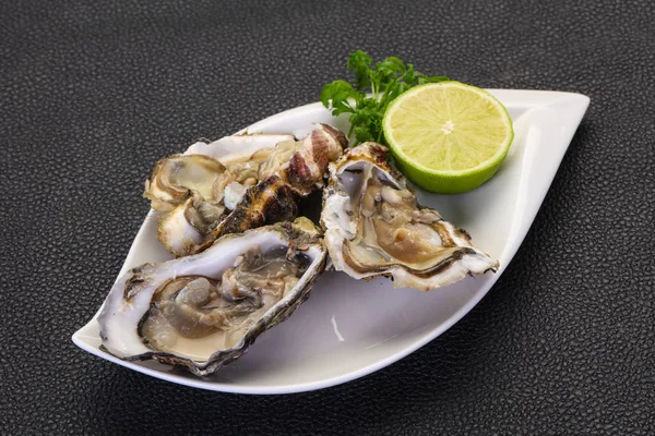
[[[562,141],[563,145],[560,145],[560,147],[558,147],[558,149],[557,149],[557,156],[555,157],[557,160],[557,165],[555,166],[553,171],[551,173],[547,173],[547,175],[549,174],[550,177],[547,177],[548,180],[546,180],[545,183],[541,183],[540,189],[541,189],[541,191],[544,191],[543,195],[537,195],[538,199],[537,201],[533,199],[531,202],[531,204],[528,205],[529,207],[527,208],[527,210],[524,210],[524,213],[522,215],[522,220],[520,222],[521,229],[514,231],[513,232],[514,235],[508,237],[510,239],[510,241],[509,241],[508,245],[505,246],[505,249],[503,250],[502,255],[499,256],[499,257],[507,257],[508,259],[505,262],[501,263],[501,267],[499,268],[497,274],[492,277],[492,279],[489,280],[484,287],[481,287],[480,290],[478,292],[476,292],[476,294],[466,302],[466,304],[464,304],[456,312],[454,312],[445,322],[441,323],[439,326],[437,326],[432,330],[429,330],[428,332],[426,332],[420,339],[417,339],[414,342],[412,342],[412,344],[405,347],[404,349],[402,349],[398,352],[392,353],[383,359],[380,359],[374,363],[361,366],[357,370],[350,371],[350,372],[342,374],[342,375],[335,375],[335,376],[331,376],[331,377],[314,380],[314,382],[303,382],[303,383],[290,384],[290,385],[251,387],[251,386],[242,386],[242,385],[238,385],[238,384],[235,385],[235,384],[229,384],[229,383],[215,383],[215,382],[207,383],[202,378],[196,378],[196,379],[188,378],[184,376],[180,376],[178,374],[171,374],[168,372],[162,372],[159,370],[139,365],[134,362],[127,362],[127,361],[120,360],[109,353],[102,351],[99,348],[96,348],[84,340],[84,338],[88,336],[86,334],[86,330],[90,328],[93,328],[93,324],[97,323],[97,316],[102,310],[102,306],[100,306],[100,308],[98,308],[98,311],[95,313],[95,315],[83,327],[78,329],[72,335],[71,339],[72,339],[73,343],[76,347],[79,347],[80,349],[88,352],[90,354],[96,355],[100,359],[116,363],[120,366],[136,371],[142,374],[150,375],[150,376],[158,378],[158,379],[171,382],[171,383],[182,385],[182,386],[200,388],[200,389],[204,389],[204,390],[229,392],[229,393],[249,393],[249,395],[296,393],[296,392],[311,391],[311,390],[323,389],[323,388],[341,385],[341,384],[348,383],[354,379],[367,376],[379,370],[382,370],[383,367],[386,367],[386,366],[400,361],[401,359],[404,359],[405,356],[409,355],[410,353],[415,352],[416,350],[422,348],[425,344],[427,344],[428,342],[430,342],[433,339],[441,336],[443,332],[445,332],[448,329],[450,329],[453,325],[455,325],[457,322],[460,322],[464,316],[466,316],[466,314],[468,314],[473,310],[473,307],[475,307],[481,301],[481,299],[485,298],[485,295],[487,295],[487,293],[493,287],[493,284],[498,281],[498,279],[502,275],[502,272],[504,272],[504,270],[511,263],[512,258],[514,257],[516,251],[519,250],[520,245],[523,243],[523,240],[525,239],[525,235],[527,234],[528,229],[532,227],[532,223],[534,222],[534,219],[538,213],[538,209],[539,209],[540,205],[543,204],[544,199],[546,198],[546,194],[550,187],[550,184],[552,183],[552,180],[555,179],[557,170],[559,169],[559,167],[561,165],[561,160],[562,160],[564,154],[567,153],[567,150],[571,144],[571,141],[573,138],[573,135],[577,131],[577,128],[580,126],[580,124],[584,118],[584,114],[586,113],[586,110],[588,108],[588,105],[591,102],[591,99],[588,96],[579,94],[579,93],[571,93],[571,92],[541,90],[541,89],[496,89],[496,88],[491,88],[491,89],[487,89],[487,90],[490,92],[492,95],[495,95],[497,98],[499,98],[505,106],[521,105],[521,106],[528,106],[528,107],[534,107],[534,108],[549,108],[549,109],[553,109],[553,107],[559,107],[559,106],[564,106],[564,108],[561,108],[561,109],[565,109],[567,106],[570,106],[568,108],[569,111],[567,112],[569,118],[568,118],[568,122],[565,123],[565,125],[568,128],[567,133],[564,134],[565,140]],[[261,130],[262,126],[265,126],[265,124],[269,122],[276,122],[276,120],[281,120],[284,118],[293,118],[300,112],[306,112],[306,111],[308,111],[310,109],[314,109],[314,108],[323,109],[323,106],[321,102],[311,102],[311,104],[298,106],[298,107],[295,107],[291,109],[287,109],[282,112],[266,117],[258,122],[254,122],[253,124],[251,124],[245,129],[241,129],[237,134],[246,133],[246,132],[249,132],[249,133],[257,132],[258,130]],[[534,108],[532,108],[532,109],[534,109]],[[561,113],[564,113],[564,112],[565,111],[562,110]],[[277,122],[279,122],[279,121],[277,121]],[[525,190],[526,187],[523,186],[523,189]],[[517,195],[519,194],[520,193],[517,193]],[[151,209],[148,211],[148,214],[145,216],[143,223],[141,225],[138,233],[135,234],[135,237],[132,241],[132,244],[130,245],[128,255],[126,256],[126,259],[123,262],[123,266],[121,267],[119,277],[123,274],[122,269],[124,268],[124,265],[128,264],[128,261],[132,257],[134,244],[139,240],[141,232],[144,230],[145,221],[151,217],[152,214],[153,214],[153,210]],[[513,219],[516,219],[516,217],[514,217]]]

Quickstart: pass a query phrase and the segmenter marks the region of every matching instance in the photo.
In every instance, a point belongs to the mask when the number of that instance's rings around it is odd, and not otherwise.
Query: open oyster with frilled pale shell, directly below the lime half
[[[432,290],[498,268],[466,231],[421,207],[386,161],[388,148],[365,143],[330,164],[321,222],[337,270],[356,279],[391,277],[394,287]]]

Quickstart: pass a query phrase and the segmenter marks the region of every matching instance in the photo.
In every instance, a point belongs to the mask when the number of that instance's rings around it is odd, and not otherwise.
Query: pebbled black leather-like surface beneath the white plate
[[[541,4],[545,3],[545,4]],[[655,433],[650,1],[0,4],[0,433]],[[461,323],[346,385],[159,382],[76,349],[153,162],[317,100],[349,50],[592,105],[531,232]]]

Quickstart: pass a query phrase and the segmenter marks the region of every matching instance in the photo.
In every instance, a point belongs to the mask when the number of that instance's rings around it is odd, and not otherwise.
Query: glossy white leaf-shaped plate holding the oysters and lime
[[[326,272],[288,320],[261,336],[241,359],[198,378],[156,362],[124,362],[99,350],[96,317],[73,335],[85,351],[140,373],[180,385],[226,392],[289,393],[338,385],[378,371],[434,339],[487,293],[516,253],[590,104],[586,96],[491,89],[514,120],[515,138],[498,174],[473,192],[419,201],[468,230],[476,246],[500,259],[497,274],[420,292],[391,282]],[[249,132],[309,132],[314,122],[347,130],[320,104],[291,109],[251,125]],[[145,262],[170,258],[146,217],[120,275]],[[106,293],[107,289],[98,292]],[[97,314],[96,314],[97,316]]]

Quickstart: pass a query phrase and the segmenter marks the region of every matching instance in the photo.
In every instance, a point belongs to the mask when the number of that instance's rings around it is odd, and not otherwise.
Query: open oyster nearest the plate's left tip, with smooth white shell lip
[[[309,296],[326,250],[307,218],[229,234],[203,253],[119,278],[98,317],[103,348],[209,375]]]

